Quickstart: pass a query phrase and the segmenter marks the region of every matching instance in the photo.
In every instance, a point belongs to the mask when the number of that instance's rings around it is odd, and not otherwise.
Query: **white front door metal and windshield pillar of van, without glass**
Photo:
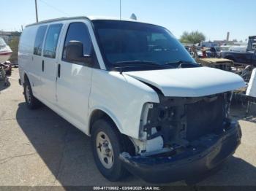
[[[100,55],[91,23],[84,19],[67,20],[62,30],[63,35],[61,36],[61,42],[59,44],[58,64],[61,65],[61,77],[56,79],[56,105],[64,115],[75,121],[75,123],[72,123],[73,125],[86,133],[88,131],[88,109],[93,69],[88,66],[81,66],[61,60],[64,41],[70,23],[84,23],[86,25],[94,47],[94,52],[97,55],[99,66],[104,70],[105,65]]]

